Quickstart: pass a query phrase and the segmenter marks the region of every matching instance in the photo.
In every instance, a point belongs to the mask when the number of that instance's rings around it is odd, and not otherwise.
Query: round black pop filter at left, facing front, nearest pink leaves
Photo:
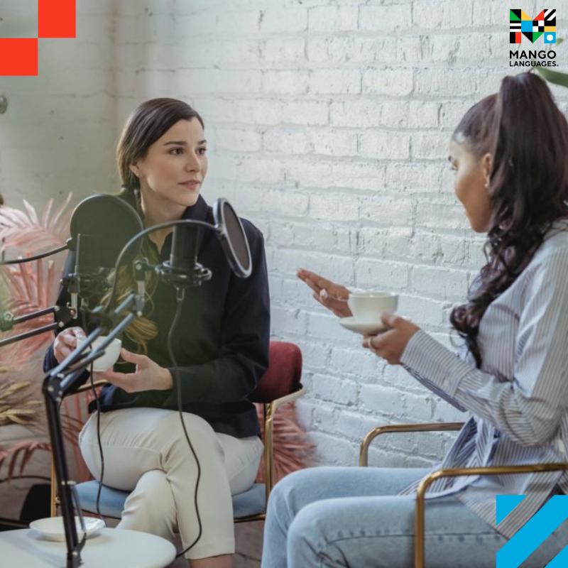
[[[75,207],[70,223],[72,251],[85,268],[114,268],[124,245],[143,229],[142,219],[129,203],[114,195],[95,194]],[[121,263],[132,262],[142,241],[129,248]]]

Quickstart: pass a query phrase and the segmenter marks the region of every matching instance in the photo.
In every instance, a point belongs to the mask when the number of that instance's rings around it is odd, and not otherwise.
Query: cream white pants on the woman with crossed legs
[[[187,434],[201,464],[197,504],[202,535],[186,553],[190,559],[234,552],[231,495],[254,482],[263,444],[256,437],[214,432],[203,418],[183,413]],[[183,547],[197,537],[197,464],[177,410],[125,408],[101,414],[105,485],[131,491],[117,528],[150,532],[169,540],[178,530]],[[101,466],[97,413],[87,420],[79,444],[96,479]]]

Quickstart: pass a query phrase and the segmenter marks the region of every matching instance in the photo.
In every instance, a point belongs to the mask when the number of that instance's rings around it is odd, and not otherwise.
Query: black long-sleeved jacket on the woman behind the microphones
[[[200,196],[187,207],[184,219],[213,223],[212,208]],[[213,276],[200,288],[188,288],[183,300],[173,350],[178,362],[182,391],[182,410],[203,417],[215,431],[235,437],[258,435],[256,410],[249,400],[258,380],[268,368],[270,304],[264,241],[261,231],[241,219],[249,239],[253,270],[249,278],[232,273],[213,231],[202,231],[197,261],[211,269]],[[160,261],[170,256],[172,234],[160,251]],[[70,253],[65,265],[69,273],[75,260]],[[60,292],[58,304],[65,305],[69,295]],[[175,290],[158,283],[147,302],[146,314],[158,327],[158,336],[148,342],[148,356],[160,366],[172,368],[167,337],[175,314]],[[77,320],[66,327],[78,325]],[[136,346],[126,335],[121,338],[126,349]],[[45,354],[44,371],[57,364],[53,346]],[[133,372],[134,366],[119,362],[118,372]],[[100,397],[102,411],[119,408],[151,407],[175,410],[175,388],[169,391],[126,393],[106,385]],[[93,410],[93,404],[89,410]]]

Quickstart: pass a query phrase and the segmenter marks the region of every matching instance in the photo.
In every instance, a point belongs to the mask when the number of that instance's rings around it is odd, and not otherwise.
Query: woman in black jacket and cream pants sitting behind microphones
[[[119,197],[138,210],[146,226],[177,219],[212,223],[212,209],[200,195],[206,151],[203,121],[189,105],[175,99],[144,102],[118,144]],[[104,484],[131,491],[118,528],[166,538],[178,530],[184,548],[197,540],[186,553],[193,567],[231,566],[231,494],[253,484],[262,454],[249,395],[268,367],[268,278],[263,236],[242,222],[251,248],[249,278],[231,272],[212,231],[197,231],[197,260],[213,276],[182,302],[173,335],[176,366],[168,353],[175,290],[155,275],[148,279],[148,309],[122,337],[125,362],[94,373],[109,384],[99,397],[102,413],[94,413],[80,434],[84,460],[100,479],[100,420]],[[172,228],[160,229],[143,241],[141,256],[156,264],[169,258],[171,246]],[[67,273],[74,263],[70,255]],[[121,300],[136,286],[133,263],[116,278]],[[58,303],[67,301],[62,293]],[[65,359],[85,331],[70,322],[46,354],[46,370]],[[174,378],[195,457],[182,429]]]

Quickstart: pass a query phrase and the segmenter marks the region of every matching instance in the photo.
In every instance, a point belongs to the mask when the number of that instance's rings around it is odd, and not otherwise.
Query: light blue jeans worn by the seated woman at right
[[[271,493],[263,568],[411,568],[415,496],[397,493],[427,469],[317,467]],[[564,523],[564,525],[567,523]],[[426,505],[427,568],[492,568],[507,541],[453,496]],[[568,542],[562,526],[523,563],[542,568]]]

